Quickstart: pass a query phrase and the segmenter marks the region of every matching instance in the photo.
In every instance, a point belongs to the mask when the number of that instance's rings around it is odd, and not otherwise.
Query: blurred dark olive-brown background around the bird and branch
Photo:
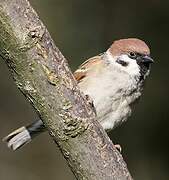
[[[169,179],[169,1],[31,0],[74,70],[113,40],[138,37],[155,60],[144,96],[127,123],[111,134],[136,180]],[[0,139],[38,118],[0,63]],[[73,180],[47,133],[13,153],[0,142],[1,180]]]

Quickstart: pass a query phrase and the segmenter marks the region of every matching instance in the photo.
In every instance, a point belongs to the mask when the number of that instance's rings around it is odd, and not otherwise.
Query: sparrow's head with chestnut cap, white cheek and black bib
[[[147,44],[136,38],[114,41],[107,50],[107,56],[108,63],[140,79],[146,78],[154,62]]]

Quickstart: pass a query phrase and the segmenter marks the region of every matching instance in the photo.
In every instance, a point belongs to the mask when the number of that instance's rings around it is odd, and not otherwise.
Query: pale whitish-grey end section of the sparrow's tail
[[[3,141],[7,143],[9,148],[15,151],[24,144],[29,143],[31,141],[31,135],[26,127],[21,127],[4,137]]]

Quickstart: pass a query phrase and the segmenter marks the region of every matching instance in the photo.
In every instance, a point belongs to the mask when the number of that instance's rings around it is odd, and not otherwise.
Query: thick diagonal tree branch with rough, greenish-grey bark
[[[0,0],[0,55],[77,179],[132,179],[27,0]]]

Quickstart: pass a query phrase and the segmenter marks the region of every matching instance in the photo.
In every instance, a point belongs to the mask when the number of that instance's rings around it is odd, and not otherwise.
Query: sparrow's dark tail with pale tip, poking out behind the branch
[[[7,146],[13,151],[29,143],[34,137],[45,131],[45,126],[41,120],[38,120],[28,126],[16,129],[3,138]]]

